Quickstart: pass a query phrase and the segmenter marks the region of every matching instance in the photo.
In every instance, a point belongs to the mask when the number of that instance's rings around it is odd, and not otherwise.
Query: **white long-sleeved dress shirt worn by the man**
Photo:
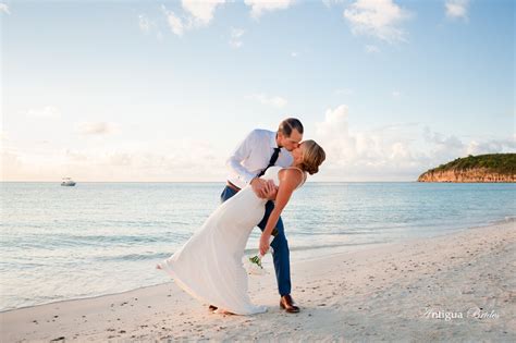
[[[228,181],[244,188],[256,175],[269,166],[269,161],[278,148],[277,133],[268,130],[253,130],[236,147],[225,164],[230,171]],[[294,161],[291,152],[281,148],[274,166],[288,167]]]

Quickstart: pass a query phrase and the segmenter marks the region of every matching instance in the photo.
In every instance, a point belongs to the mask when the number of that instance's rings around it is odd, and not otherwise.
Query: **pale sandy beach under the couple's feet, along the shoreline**
[[[1,313],[1,341],[514,342],[515,229],[502,222],[293,261],[299,314],[280,309],[273,272],[249,277],[251,299],[269,307],[249,317],[212,314],[170,281]]]

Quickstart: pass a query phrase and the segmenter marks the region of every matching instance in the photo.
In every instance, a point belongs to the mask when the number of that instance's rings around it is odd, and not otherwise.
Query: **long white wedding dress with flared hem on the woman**
[[[270,167],[261,179],[279,185],[281,169]],[[266,203],[250,185],[242,188],[221,204],[177,252],[160,262],[160,268],[184,291],[201,303],[217,306],[218,311],[235,315],[267,311],[266,306],[250,302],[243,265],[247,240],[263,218]]]

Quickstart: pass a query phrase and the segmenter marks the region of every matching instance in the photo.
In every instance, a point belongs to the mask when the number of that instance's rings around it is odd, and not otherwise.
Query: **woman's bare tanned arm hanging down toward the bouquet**
[[[278,195],[275,197],[274,209],[269,216],[266,229],[261,233],[260,237],[260,254],[266,255],[269,250],[269,240],[280,220],[281,212],[288,203],[292,193],[303,182],[303,174],[298,169],[283,169],[279,172],[280,187],[278,188]]]

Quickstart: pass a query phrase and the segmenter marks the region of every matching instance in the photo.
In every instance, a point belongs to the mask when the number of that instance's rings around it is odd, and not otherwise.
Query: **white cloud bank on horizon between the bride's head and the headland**
[[[349,109],[328,109],[316,123],[315,139],[327,152],[317,177],[349,181],[417,180],[422,172],[457,157],[511,152],[516,137],[463,142],[455,135],[420,127],[419,123],[393,123],[368,131],[353,131]]]

